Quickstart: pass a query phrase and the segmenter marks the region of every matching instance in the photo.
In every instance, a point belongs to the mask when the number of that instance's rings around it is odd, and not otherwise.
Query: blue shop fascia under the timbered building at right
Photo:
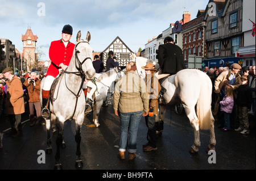
[[[220,57],[220,58],[214,58],[214,59],[205,59],[203,61],[203,67],[209,66],[225,66],[226,62],[229,62],[230,65],[236,63],[242,65],[242,58],[238,57]]]

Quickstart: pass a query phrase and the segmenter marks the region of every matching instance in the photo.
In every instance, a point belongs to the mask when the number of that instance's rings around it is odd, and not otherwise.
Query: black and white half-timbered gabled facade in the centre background
[[[126,66],[131,60],[131,54],[133,51],[117,36],[114,41],[102,52],[102,61],[106,66],[106,60],[108,59],[108,53],[112,50],[114,56],[117,57],[119,66]]]

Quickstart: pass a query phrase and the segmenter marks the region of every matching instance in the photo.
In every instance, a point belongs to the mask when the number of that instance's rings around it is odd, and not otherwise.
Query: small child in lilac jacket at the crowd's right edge
[[[224,114],[224,128],[223,131],[229,131],[230,127],[230,114],[232,113],[233,106],[234,106],[234,99],[233,99],[233,89],[231,86],[226,85],[225,87],[226,95],[220,101],[221,105],[221,112]]]

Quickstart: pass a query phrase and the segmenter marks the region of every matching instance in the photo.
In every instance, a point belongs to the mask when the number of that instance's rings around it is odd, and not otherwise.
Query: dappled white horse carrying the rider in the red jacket
[[[49,130],[51,123],[56,120],[57,128],[57,151],[55,155],[55,169],[61,169],[60,163],[60,145],[63,142],[63,125],[68,119],[74,119],[76,123],[75,140],[77,144],[76,150],[76,167],[82,167],[80,158],[80,142],[81,142],[81,126],[84,121],[85,97],[82,92],[82,84],[85,78],[91,79],[95,74],[92,64],[93,49],[89,45],[90,33],[87,33],[86,40],[81,40],[81,32],[77,33],[76,47],[67,70],[61,74],[59,82],[57,82],[55,91],[51,95],[53,102],[49,104],[51,120],[46,120],[46,128],[48,134],[47,149],[51,149],[51,138]],[[41,82],[40,102],[42,104],[42,87],[45,79]]]

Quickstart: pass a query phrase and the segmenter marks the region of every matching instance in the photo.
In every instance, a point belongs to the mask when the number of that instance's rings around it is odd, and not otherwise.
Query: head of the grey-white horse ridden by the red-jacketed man
[[[95,69],[93,68],[93,49],[90,47],[90,32],[88,31],[86,39],[81,39],[81,31],[77,33],[76,36],[76,67],[77,69],[82,69],[85,74],[86,79],[92,79],[95,74]],[[77,63],[79,65],[77,65]],[[79,70],[81,71],[81,70]]]

